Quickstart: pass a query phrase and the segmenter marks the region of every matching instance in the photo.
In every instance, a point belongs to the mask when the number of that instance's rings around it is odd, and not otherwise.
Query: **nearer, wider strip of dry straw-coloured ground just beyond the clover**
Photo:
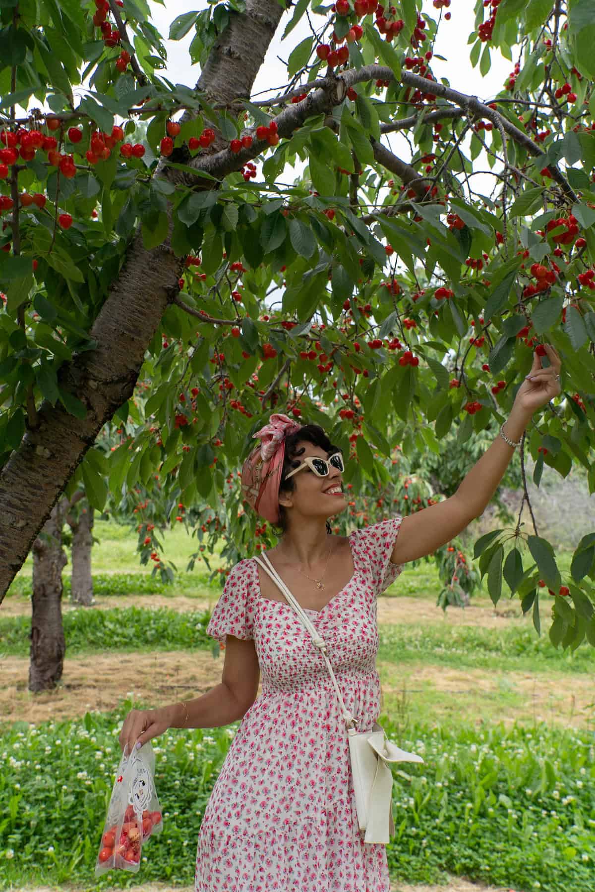
[[[198,697],[219,684],[222,667],[223,657],[212,657],[203,650],[67,655],[58,687],[31,694],[27,690],[29,658],[4,657],[0,715],[6,723],[61,721],[82,716],[87,710],[110,711],[130,694],[152,706],[164,706]],[[390,698],[401,698],[404,687],[414,710],[427,706],[437,721],[447,720],[453,710],[462,710],[475,722],[483,716],[505,723],[541,718],[575,727],[592,723],[589,676],[574,675],[569,691],[564,673],[498,673],[421,662],[400,667],[384,661],[378,663],[378,671],[389,714],[395,709],[394,703],[389,705]]]

